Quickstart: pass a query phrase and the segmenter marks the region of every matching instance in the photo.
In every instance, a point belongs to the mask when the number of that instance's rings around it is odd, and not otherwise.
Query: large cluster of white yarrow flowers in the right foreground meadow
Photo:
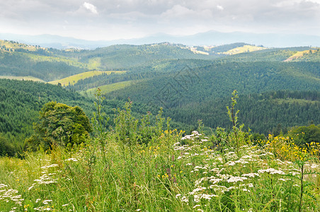
[[[215,151],[210,146],[205,146],[208,139],[201,139],[202,134],[193,131],[193,134],[184,136],[181,142],[174,144],[174,150],[180,151],[178,160],[185,162],[185,168],[190,170],[190,175],[198,176],[195,180],[194,189],[186,194],[177,194],[176,199],[180,199],[185,204],[195,204],[193,208],[202,210],[202,204],[210,204],[214,198],[220,198],[227,192],[252,193],[253,187],[257,187],[256,181],[263,179],[265,174],[271,175],[278,183],[285,183],[287,178],[280,178],[281,175],[297,173],[299,170],[293,169],[293,164],[289,161],[274,159],[275,155],[265,148],[258,146],[241,146],[241,155],[236,154],[234,148],[226,148],[224,151]],[[188,141],[188,142],[185,142]],[[184,145],[183,145],[184,143]],[[193,158],[202,155],[203,158]],[[198,161],[198,162],[196,162]],[[269,161],[269,162],[268,162]],[[202,163],[202,164],[201,164]],[[273,167],[292,166],[291,169],[281,169]],[[250,167],[249,169],[246,166]],[[309,165],[316,168],[317,165]],[[263,167],[256,169],[254,167]],[[250,170],[251,172],[246,172]],[[232,175],[231,175],[232,173]],[[295,186],[295,185],[294,185]],[[258,189],[263,189],[258,185]],[[257,189],[257,188],[256,188]],[[201,204],[200,204],[201,203]],[[252,208],[249,210],[252,211]]]

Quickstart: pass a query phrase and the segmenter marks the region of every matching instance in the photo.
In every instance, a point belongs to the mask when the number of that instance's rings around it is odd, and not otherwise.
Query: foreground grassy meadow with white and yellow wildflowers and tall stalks
[[[186,134],[170,119],[132,117],[100,100],[91,139],[0,158],[0,211],[320,211],[320,143],[288,136],[251,140],[229,111],[232,131]]]

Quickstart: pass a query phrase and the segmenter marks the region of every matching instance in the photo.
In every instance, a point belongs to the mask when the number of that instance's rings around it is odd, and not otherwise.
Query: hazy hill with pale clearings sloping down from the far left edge
[[[30,47],[16,42],[3,42],[0,49],[1,76],[33,76],[43,81],[87,71],[74,59],[57,57],[48,49]]]

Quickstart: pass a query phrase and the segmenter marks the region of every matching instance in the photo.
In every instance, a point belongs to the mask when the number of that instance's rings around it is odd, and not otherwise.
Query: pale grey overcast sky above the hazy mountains
[[[320,35],[320,0],[0,0],[0,33],[117,40],[208,30]]]

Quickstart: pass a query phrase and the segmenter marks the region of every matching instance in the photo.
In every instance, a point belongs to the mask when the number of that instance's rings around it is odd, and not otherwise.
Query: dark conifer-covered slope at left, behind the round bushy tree
[[[92,99],[79,93],[65,90],[61,86],[33,81],[0,79],[0,134],[10,141],[23,143],[33,131],[33,122],[38,122],[39,111],[50,101],[69,106],[79,106],[88,117],[92,117]],[[114,114],[113,108],[122,107],[124,101],[104,102],[105,112]]]

